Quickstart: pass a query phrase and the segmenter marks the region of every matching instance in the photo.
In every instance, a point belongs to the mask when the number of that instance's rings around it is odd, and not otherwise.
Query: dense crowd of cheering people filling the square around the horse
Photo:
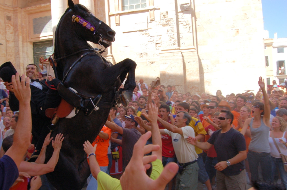
[[[41,76],[34,64],[26,75],[30,79],[23,75],[20,82],[17,73],[12,83],[1,83],[0,189],[49,186],[44,175],[54,170],[64,140],[61,133],[55,138],[49,133],[35,148],[41,137],[32,130],[39,111],[34,113],[31,92],[33,97],[34,87],[44,91],[44,83],[36,81]],[[140,79],[128,105],[112,107],[95,140],[84,143],[91,170],[87,190],[195,190],[198,181],[209,190],[247,189],[247,184],[287,188],[281,159],[287,155],[285,83],[275,81],[266,91],[259,78],[256,95],[223,96],[220,90],[215,95],[182,93],[176,86],[154,85],[159,81],[147,85]],[[50,143],[54,152],[44,163]],[[36,161],[28,162],[35,152]]]

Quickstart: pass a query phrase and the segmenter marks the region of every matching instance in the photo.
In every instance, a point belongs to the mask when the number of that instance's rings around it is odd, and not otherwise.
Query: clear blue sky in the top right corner
[[[287,38],[287,0],[262,0],[264,29],[269,38]]]

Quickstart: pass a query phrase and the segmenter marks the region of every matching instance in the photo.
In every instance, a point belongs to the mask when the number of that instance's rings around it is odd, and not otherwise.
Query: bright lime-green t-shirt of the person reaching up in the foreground
[[[152,162],[152,173],[150,178],[155,180],[162,173],[163,165],[162,161],[156,159]],[[120,180],[109,176],[108,174],[100,171],[98,173],[98,190],[122,190]]]

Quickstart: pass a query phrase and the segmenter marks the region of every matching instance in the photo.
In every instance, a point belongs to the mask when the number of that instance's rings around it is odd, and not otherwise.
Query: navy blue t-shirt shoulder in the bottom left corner
[[[18,168],[12,158],[4,155],[0,159],[0,170],[0,189],[8,190],[19,176]]]

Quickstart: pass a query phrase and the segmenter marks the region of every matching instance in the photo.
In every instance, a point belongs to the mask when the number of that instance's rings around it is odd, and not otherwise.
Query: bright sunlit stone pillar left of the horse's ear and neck
[[[55,31],[59,23],[59,20],[62,17],[62,15],[65,13],[67,8],[68,8],[68,2],[66,0],[51,0],[53,41],[55,39]]]

